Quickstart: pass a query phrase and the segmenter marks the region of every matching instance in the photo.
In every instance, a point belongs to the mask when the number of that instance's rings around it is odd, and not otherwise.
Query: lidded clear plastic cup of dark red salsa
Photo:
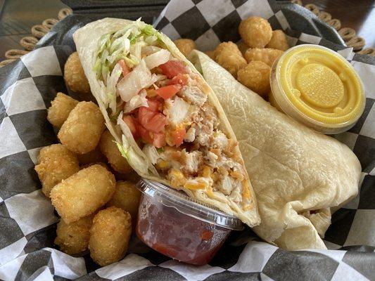
[[[205,265],[231,230],[243,230],[238,218],[192,200],[182,191],[146,179],[141,179],[137,188],[142,196],[136,235],[172,259]]]

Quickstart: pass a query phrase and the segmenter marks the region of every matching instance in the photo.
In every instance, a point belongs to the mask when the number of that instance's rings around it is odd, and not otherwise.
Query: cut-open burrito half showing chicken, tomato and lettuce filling
[[[173,42],[141,20],[115,18],[91,22],[73,39],[106,126],[134,171],[257,226],[231,125]]]

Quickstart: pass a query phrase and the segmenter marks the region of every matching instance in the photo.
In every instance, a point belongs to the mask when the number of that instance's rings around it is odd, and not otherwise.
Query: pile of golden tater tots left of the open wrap
[[[47,119],[61,143],[40,150],[35,170],[42,192],[61,216],[55,244],[73,256],[89,251],[98,265],[106,266],[127,252],[141,192],[98,105],[84,101],[94,98],[77,53],[65,63],[64,78],[83,101],[57,93]]]

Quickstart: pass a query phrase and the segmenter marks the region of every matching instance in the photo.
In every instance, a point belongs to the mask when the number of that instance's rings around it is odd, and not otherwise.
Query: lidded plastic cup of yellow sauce
[[[347,131],[364,110],[360,77],[329,48],[290,48],[272,65],[270,83],[269,102],[274,107],[321,133]]]

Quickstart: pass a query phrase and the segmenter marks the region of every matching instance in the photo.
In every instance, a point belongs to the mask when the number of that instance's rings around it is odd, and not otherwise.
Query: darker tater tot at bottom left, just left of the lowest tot
[[[85,216],[72,223],[65,223],[65,221],[60,220],[56,228],[55,244],[66,254],[83,254],[89,245],[93,218],[94,215]]]

